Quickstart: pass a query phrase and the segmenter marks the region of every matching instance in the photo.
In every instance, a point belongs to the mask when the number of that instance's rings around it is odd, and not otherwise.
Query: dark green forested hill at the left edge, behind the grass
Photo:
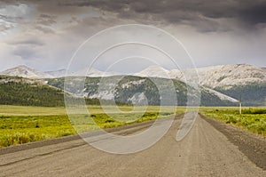
[[[64,92],[40,80],[0,76],[0,104],[23,106],[64,106]]]

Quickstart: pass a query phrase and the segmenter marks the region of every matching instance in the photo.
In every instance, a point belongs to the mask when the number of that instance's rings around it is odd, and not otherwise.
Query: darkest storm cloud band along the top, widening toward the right
[[[207,28],[213,20],[232,19],[253,28],[256,24],[266,22],[266,1],[248,0],[82,0],[60,1],[66,6],[93,6],[108,12],[117,12],[121,18],[139,20],[139,16],[150,15],[150,20],[168,23],[188,24],[195,28]],[[213,19],[213,20],[210,20]],[[202,23],[200,23],[200,21]],[[210,22],[209,24],[207,24]],[[203,27],[201,27],[203,26]],[[213,28],[212,30],[216,30]]]

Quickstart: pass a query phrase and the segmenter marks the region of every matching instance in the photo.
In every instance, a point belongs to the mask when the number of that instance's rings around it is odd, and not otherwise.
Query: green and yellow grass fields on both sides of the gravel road
[[[82,133],[99,128],[140,123],[173,115],[173,108],[149,106],[133,109],[120,106],[88,106],[87,114],[66,115],[65,108],[24,107],[0,105],[0,147],[12,146],[32,141]],[[118,112],[122,111],[122,112]],[[160,111],[160,114],[159,114]],[[176,108],[176,114],[183,113],[184,107]],[[266,136],[266,109],[244,108],[239,115],[238,108],[200,108],[207,117],[215,118],[243,130]]]

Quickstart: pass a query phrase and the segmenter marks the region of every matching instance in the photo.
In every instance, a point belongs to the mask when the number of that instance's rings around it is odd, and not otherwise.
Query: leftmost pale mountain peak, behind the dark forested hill
[[[16,68],[10,68],[7,70],[4,70],[0,73],[0,75],[5,76],[22,76],[27,78],[45,78],[45,77],[51,77],[47,73],[43,73],[42,71],[35,70],[33,68],[28,68],[27,66],[21,65]]]

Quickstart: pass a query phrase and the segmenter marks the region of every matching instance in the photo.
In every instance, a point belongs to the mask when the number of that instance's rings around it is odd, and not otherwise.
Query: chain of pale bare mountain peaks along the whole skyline
[[[196,75],[198,72],[199,77]],[[0,73],[7,76],[22,76],[32,78],[52,78],[65,76],[66,70],[41,72],[26,66],[11,68]],[[118,73],[104,72],[96,68],[82,69],[74,73],[67,73],[67,76],[115,76]],[[266,68],[259,68],[252,65],[221,65],[207,68],[186,69],[186,70],[167,70],[159,66],[151,66],[134,74],[143,77],[163,77],[178,78],[183,81],[197,81],[202,86],[208,88],[230,89],[234,85],[261,84],[266,83]]]

